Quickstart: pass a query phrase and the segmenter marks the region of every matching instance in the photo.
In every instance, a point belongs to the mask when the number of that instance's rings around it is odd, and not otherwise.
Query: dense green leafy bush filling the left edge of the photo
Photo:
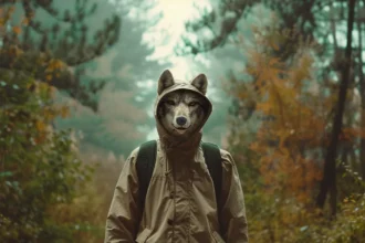
[[[55,223],[49,212],[72,201],[92,168],[77,159],[70,130],[53,130],[53,119],[66,114],[65,107],[53,105],[53,92],[32,72],[0,70],[2,242],[70,242],[74,231]]]

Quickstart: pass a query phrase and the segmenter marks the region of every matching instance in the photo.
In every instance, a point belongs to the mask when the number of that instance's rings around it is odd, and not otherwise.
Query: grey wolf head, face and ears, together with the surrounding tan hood
[[[168,70],[163,72],[158,80],[155,118],[165,147],[200,142],[201,128],[212,109],[206,97],[207,86],[204,74],[191,82],[182,82],[174,80]]]

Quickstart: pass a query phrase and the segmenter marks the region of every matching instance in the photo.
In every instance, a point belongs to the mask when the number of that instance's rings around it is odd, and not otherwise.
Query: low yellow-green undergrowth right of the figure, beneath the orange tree
[[[234,144],[240,139],[240,142]],[[238,162],[244,203],[249,222],[251,242],[284,243],[347,243],[365,241],[365,184],[356,172],[344,167],[341,175],[346,182],[340,182],[340,190],[350,186],[352,191],[338,203],[336,219],[327,219],[324,211],[314,203],[304,203],[294,197],[288,197],[283,190],[270,191],[264,184],[265,175],[259,170],[260,155],[247,146],[248,136],[242,133],[230,136],[230,149]],[[342,180],[343,180],[342,179]],[[343,184],[345,183],[345,184]],[[342,192],[344,194],[344,192]],[[350,196],[348,196],[350,194]]]

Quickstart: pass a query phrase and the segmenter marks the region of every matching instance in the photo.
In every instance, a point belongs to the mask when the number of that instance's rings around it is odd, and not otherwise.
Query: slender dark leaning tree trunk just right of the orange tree
[[[317,197],[317,205],[320,208],[324,207],[326,194],[331,193],[331,213],[333,216],[336,214],[336,155],[337,155],[337,144],[338,136],[342,130],[342,118],[345,109],[346,93],[350,83],[350,68],[351,68],[351,54],[352,54],[352,32],[354,25],[354,11],[355,11],[355,0],[348,0],[348,15],[347,15],[347,43],[345,51],[345,60],[342,70],[341,84],[338,91],[338,102],[336,114],[333,120],[332,137],[325,155],[324,168],[323,168],[323,179],[321,181],[320,193]]]

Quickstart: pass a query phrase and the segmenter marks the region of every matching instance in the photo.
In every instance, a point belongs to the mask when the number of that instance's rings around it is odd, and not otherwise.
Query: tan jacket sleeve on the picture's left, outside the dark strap
[[[140,209],[135,149],[125,161],[107,213],[105,243],[135,242]]]

